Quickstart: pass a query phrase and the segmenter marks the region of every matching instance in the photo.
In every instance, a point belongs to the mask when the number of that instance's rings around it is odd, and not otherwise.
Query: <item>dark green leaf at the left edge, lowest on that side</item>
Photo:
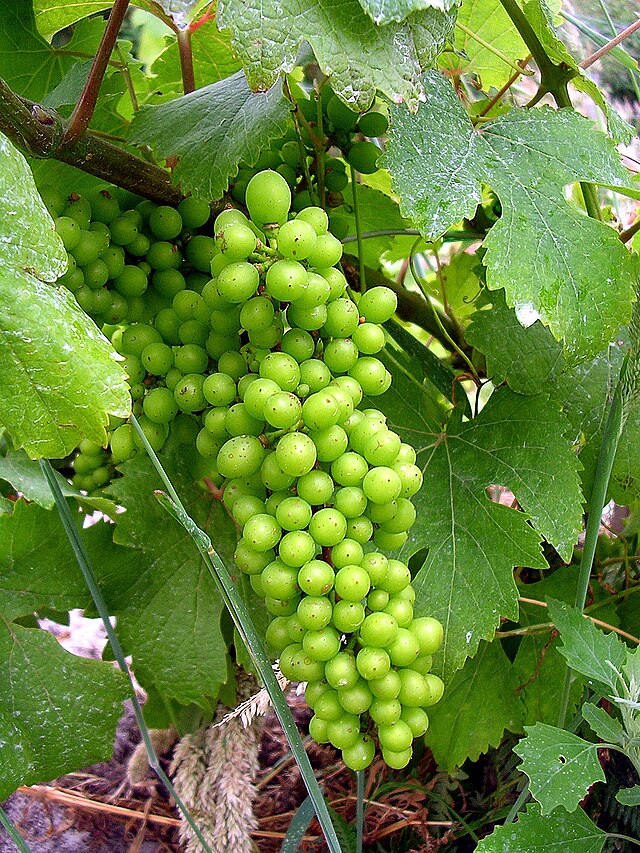
[[[113,666],[74,657],[51,634],[3,614],[0,682],[0,799],[111,756],[129,694]]]

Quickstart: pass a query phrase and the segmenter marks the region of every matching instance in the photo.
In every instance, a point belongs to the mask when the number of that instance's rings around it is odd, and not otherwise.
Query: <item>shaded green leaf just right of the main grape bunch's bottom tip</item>
[[[440,767],[452,773],[467,758],[477,761],[490,746],[498,746],[505,729],[522,731],[516,687],[500,643],[481,643],[475,657],[455,673],[442,700],[429,709],[425,742]]]

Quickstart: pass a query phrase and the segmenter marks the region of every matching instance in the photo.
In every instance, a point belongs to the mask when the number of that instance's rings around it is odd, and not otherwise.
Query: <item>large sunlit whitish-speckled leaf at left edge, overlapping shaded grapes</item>
[[[107,413],[129,412],[124,371],[73,296],[49,284],[66,252],[24,157],[1,135],[0,223],[0,419],[31,456],[66,456],[83,437],[103,444]]]

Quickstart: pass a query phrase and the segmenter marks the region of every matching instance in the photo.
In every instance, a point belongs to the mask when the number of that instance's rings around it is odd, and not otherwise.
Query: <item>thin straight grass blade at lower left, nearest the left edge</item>
[[[87,554],[87,550],[84,546],[82,539],[80,538],[80,534],[78,532],[78,528],[73,522],[73,518],[71,516],[71,512],[65,501],[62,491],[60,489],[60,484],[58,483],[53,468],[51,467],[51,463],[48,459],[40,460],[40,467],[44,473],[44,476],[47,478],[47,482],[49,483],[49,488],[51,489],[51,493],[53,494],[53,498],[56,502],[56,508],[58,513],[60,514],[60,518],[62,520],[62,526],[65,529],[67,537],[69,538],[69,542],[71,543],[71,547],[75,554],[76,560],[78,561],[78,565],[80,566],[80,570],[82,572],[82,576],[84,577],[85,583],[89,592],[91,593],[91,598],[93,599],[93,603],[96,606],[98,614],[102,619],[102,624],[104,625],[104,629],[107,634],[107,639],[109,640],[109,644],[113,651],[113,656],[115,657],[119,668],[126,675],[129,681],[129,687],[131,688],[131,702],[133,705],[133,711],[136,717],[136,721],[138,723],[138,727],[140,728],[140,734],[142,735],[142,740],[147,750],[147,758],[149,760],[149,766],[155,771],[157,776],[160,778],[160,781],[165,786],[167,791],[171,794],[173,799],[175,800],[176,806],[178,807],[180,813],[187,821],[193,832],[195,833],[198,841],[202,844],[203,849],[206,853],[213,853],[209,845],[204,839],[202,832],[196,826],[196,823],[189,813],[189,810],[185,806],[185,804],[180,799],[176,789],[173,787],[173,783],[171,779],[167,776],[167,774],[162,769],[160,762],[158,760],[158,756],[156,755],[155,749],[153,748],[153,743],[151,742],[151,737],[149,736],[149,729],[144,721],[144,715],[142,713],[142,707],[140,706],[140,702],[138,701],[138,697],[136,695],[135,686],[133,684],[133,679],[131,677],[131,670],[127,664],[127,661],[124,656],[124,652],[122,650],[122,646],[120,645],[120,640],[111,624],[111,619],[109,618],[109,610],[107,608],[106,602],[102,597],[102,593],[100,591],[100,587],[96,581],[95,574],[93,572],[93,568],[91,566],[91,562],[89,560],[89,555]]]

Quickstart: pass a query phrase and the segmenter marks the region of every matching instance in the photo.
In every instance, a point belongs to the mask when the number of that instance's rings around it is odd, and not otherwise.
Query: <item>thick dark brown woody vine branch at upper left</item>
[[[0,79],[0,131],[25,154],[68,163],[160,204],[175,205],[184,198],[165,169],[90,131],[63,145],[64,129],[64,120],[58,113],[20,98]]]

